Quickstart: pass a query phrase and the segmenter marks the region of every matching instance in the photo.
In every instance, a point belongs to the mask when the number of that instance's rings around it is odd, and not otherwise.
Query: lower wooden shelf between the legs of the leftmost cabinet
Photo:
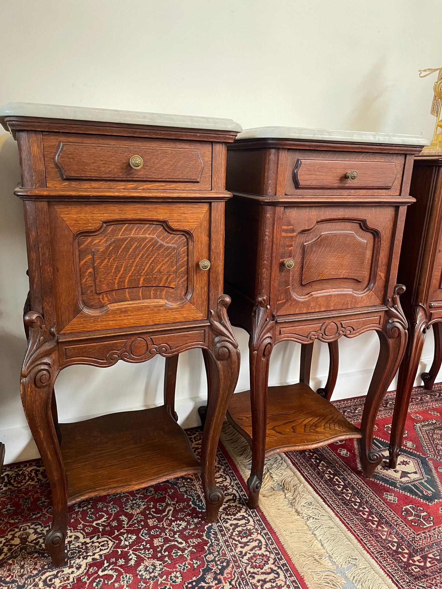
[[[166,407],[60,423],[68,505],[201,472],[184,430]]]

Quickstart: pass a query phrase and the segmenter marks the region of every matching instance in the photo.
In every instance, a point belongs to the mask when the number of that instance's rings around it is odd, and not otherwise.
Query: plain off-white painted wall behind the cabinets
[[[0,104],[49,102],[231,117],[244,128],[294,125],[431,137],[433,77],[440,67],[439,0],[2,0]],[[19,400],[28,290],[17,145],[0,134],[0,433],[6,462],[31,458]],[[248,336],[238,391],[249,388]],[[374,333],[339,342],[335,393],[367,392]],[[431,362],[425,342],[420,372]],[[72,366],[57,380],[61,421],[161,402],[164,359],[105,370]],[[270,383],[298,380],[299,346],[272,355]],[[315,344],[312,382],[328,353]],[[394,388],[394,384],[392,385]],[[198,350],[180,358],[177,411],[185,425],[206,395]]]

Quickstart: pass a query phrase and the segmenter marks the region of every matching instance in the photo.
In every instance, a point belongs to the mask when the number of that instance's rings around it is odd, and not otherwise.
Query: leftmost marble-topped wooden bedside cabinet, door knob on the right
[[[68,505],[88,497],[201,472],[215,521],[216,447],[239,372],[222,289],[226,144],[240,126],[23,103],[0,121],[19,148],[30,287],[21,395],[51,484],[53,564],[65,562]],[[210,374],[201,461],[174,411],[177,355],[192,348]],[[163,406],[58,423],[61,369],[156,354]]]

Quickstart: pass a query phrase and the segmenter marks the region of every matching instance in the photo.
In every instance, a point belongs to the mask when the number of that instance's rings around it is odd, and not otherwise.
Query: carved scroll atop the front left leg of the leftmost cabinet
[[[29,336],[21,379],[45,388],[54,382],[58,372],[57,332],[55,326],[48,328],[35,311],[26,313],[23,321]]]

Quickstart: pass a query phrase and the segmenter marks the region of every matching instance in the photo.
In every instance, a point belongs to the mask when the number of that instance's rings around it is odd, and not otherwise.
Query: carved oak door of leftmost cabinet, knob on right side
[[[50,204],[59,333],[207,318],[210,205]]]

